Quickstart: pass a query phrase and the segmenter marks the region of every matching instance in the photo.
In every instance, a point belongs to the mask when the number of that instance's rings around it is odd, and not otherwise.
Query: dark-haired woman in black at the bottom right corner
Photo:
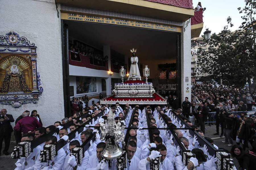
[[[234,145],[230,154],[238,160],[238,163],[242,170],[254,170],[255,158],[252,155],[247,154],[239,145]]]

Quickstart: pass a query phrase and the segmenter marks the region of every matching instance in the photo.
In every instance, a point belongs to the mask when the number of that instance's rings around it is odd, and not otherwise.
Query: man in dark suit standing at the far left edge
[[[13,116],[11,114],[7,114],[6,109],[1,109],[1,119],[0,119],[0,154],[2,150],[3,140],[5,139],[5,148],[3,150],[3,154],[9,155],[8,149],[11,141],[11,134],[13,132],[13,128],[11,126],[11,122],[14,122]]]

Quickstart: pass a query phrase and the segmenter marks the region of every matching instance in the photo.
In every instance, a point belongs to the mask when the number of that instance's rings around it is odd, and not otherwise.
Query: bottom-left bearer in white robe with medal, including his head
[[[25,133],[22,135],[21,142],[22,141],[32,141],[34,140],[34,134],[33,133]],[[29,167],[32,167],[40,154],[42,147],[38,145],[36,148],[33,148],[33,152],[30,152],[27,158],[20,157],[18,161],[15,163],[17,166],[15,170],[24,170]]]

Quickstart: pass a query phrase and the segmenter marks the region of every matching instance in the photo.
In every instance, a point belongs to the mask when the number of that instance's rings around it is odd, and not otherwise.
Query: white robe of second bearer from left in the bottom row
[[[38,159],[36,160],[35,165],[33,165],[32,167],[28,168],[27,170],[34,170],[34,169],[41,169],[44,168],[48,169],[48,170],[61,170],[64,160],[66,158],[66,153],[65,151],[61,148],[60,150],[58,150],[57,152],[57,156],[55,156],[55,158],[53,159],[53,161],[49,161],[49,166],[47,162],[40,162],[39,161],[39,156]]]

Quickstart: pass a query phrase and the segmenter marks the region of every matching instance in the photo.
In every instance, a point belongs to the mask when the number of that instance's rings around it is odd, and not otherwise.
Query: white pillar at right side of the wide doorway
[[[184,101],[185,97],[191,101],[191,22],[184,31],[185,23],[181,36],[181,101]]]

